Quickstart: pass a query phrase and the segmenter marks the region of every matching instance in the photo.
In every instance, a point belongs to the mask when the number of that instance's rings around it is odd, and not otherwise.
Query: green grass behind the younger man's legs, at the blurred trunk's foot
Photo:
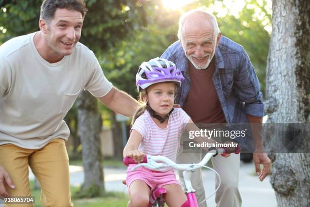
[[[34,189],[34,181],[30,181],[31,196],[35,197],[34,207],[42,207],[40,201],[41,190]],[[79,187],[71,187],[71,194],[74,195],[79,190]],[[73,197],[73,196],[71,196]],[[84,198],[84,199],[72,199],[74,207],[125,207],[129,196],[125,193],[119,192],[107,192],[104,197],[98,198]]]

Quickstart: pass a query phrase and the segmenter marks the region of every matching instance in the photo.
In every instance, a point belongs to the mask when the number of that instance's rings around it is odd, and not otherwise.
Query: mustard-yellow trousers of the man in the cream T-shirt
[[[71,202],[69,159],[63,139],[54,139],[45,147],[29,150],[12,144],[0,146],[0,166],[8,172],[15,189],[5,186],[10,196],[30,196],[30,166],[41,186],[41,202],[45,207],[73,206]],[[38,201],[35,201],[38,202]],[[30,207],[33,204],[7,204]]]

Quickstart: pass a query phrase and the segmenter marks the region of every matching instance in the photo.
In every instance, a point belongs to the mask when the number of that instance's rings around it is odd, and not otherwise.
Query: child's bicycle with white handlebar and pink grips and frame
[[[216,170],[214,170],[211,167],[205,166],[207,162],[211,159],[212,156],[216,156],[218,154],[227,154],[227,153],[240,153],[240,147],[238,145],[237,148],[234,149],[228,149],[228,148],[209,148],[209,152],[205,155],[205,157],[202,159],[199,163],[190,163],[190,164],[177,164],[173,162],[172,160],[168,159],[164,156],[151,156],[151,155],[144,155],[143,161],[139,163],[138,165],[134,166],[132,170],[135,170],[139,167],[147,167],[152,170],[158,170],[163,167],[172,167],[176,170],[182,171],[184,183],[185,183],[185,195],[187,197],[187,201],[181,205],[181,207],[198,207],[200,203],[197,202],[195,189],[192,188],[190,183],[190,178],[192,175],[192,172],[194,172],[196,169],[205,167],[213,170],[218,176],[219,179],[219,185],[215,189],[215,191],[207,197],[205,200],[210,198],[216,191],[219,189],[221,184],[221,178]],[[125,157],[123,160],[123,163],[128,166],[129,164],[136,164],[134,159],[131,157]],[[154,189],[149,198],[149,204],[147,207],[164,207],[165,206],[165,194],[166,190],[164,188],[157,188]],[[202,202],[204,202],[203,200]],[[201,203],[202,203],[201,202]]]

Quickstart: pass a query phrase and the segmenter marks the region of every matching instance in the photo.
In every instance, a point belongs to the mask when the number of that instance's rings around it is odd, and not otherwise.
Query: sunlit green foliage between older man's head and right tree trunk
[[[225,6],[223,5],[223,8]],[[256,15],[265,15],[261,20]],[[263,27],[263,21],[271,22],[271,16],[265,9],[265,5],[259,5],[256,1],[245,4],[239,17],[227,15],[218,18],[219,28],[222,34],[242,45],[247,51],[254,65],[261,90],[265,91],[265,68],[269,49],[270,36]]]

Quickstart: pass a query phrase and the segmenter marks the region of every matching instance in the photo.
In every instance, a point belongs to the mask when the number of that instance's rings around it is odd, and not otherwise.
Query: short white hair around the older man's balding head
[[[193,14],[197,14],[197,13],[204,15],[206,17],[206,19],[209,19],[211,21],[211,24],[212,24],[213,30],[214,30],[214,37],[215,38],[217,37],[220,30],[218,28],[218,24],[217,24],[215,16],[213,14],[208,13],[205,10],[202,10],[202,9],[192,9],[192,10],[185,12],[179,19],[179,30],[178,30],[179,40],[182,41],[182,39],[183,39],[183,25],[184,25],[186,18],[193,15]]]

